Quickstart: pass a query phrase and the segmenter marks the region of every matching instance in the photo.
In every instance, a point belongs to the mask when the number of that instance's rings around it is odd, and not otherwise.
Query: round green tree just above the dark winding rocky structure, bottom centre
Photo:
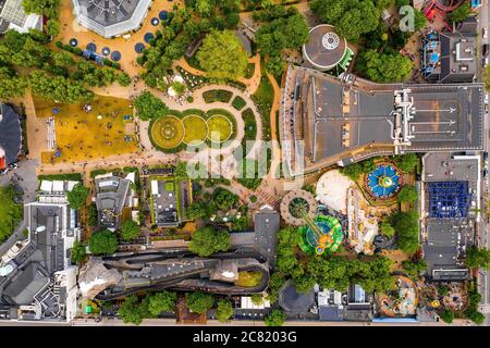
[[[212,227],[197,229],[188,244],[188,249],[199,257],[209,257],[218,251],[226,251],[229,248],[230,234]]]

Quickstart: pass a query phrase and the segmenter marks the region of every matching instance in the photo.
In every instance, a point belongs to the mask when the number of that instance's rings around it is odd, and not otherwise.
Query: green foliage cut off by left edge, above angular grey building
[[[12,186],[0,186],[0,243],[13,233],[17,222],[22,220],[22,206],[15,204],[15,190]]]

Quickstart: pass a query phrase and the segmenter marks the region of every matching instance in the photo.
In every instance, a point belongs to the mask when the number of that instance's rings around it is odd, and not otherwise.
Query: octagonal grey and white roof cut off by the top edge
[[[83,26],[111,38],[139,28],[151,0],[72,0],[72,4]]]

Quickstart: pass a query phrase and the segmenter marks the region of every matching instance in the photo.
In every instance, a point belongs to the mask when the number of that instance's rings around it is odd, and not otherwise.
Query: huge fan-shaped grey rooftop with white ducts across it
[[[480,84],[379,85],[291,66],[281,114],[285,160],[294,166],[304,150],[306,170],[380,154],[376,150],[482,149]]]

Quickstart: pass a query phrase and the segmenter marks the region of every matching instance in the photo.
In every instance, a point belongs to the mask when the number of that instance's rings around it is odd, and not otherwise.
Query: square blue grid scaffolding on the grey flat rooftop
[[[470,207],[468,182],[429,183],[429,217],[466,217]]]

